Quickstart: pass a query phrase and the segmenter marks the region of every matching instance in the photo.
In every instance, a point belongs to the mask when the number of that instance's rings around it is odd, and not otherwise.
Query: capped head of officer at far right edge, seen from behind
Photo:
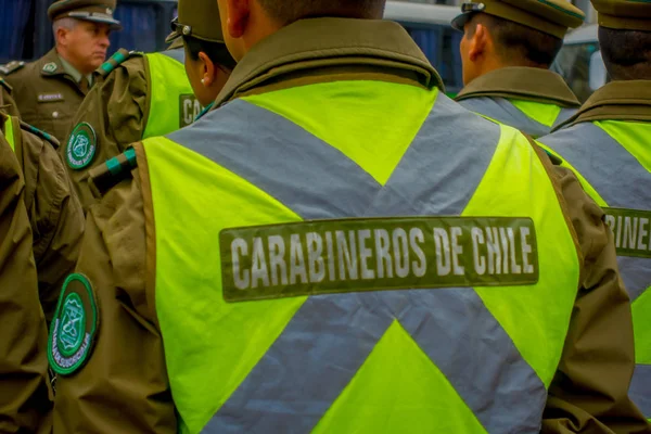
[[[651,80],[651,2],[592,0],[599,44],[614,80]]]

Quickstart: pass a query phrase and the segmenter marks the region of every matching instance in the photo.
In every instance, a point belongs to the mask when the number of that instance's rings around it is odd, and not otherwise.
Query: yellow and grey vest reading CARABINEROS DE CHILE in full
[[[539,432],[579,258],[516,130],[355,80],[144,152],[180,432]]]

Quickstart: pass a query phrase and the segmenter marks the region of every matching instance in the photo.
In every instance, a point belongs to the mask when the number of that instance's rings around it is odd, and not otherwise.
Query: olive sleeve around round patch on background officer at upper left
[[[95,137],[95,155],[87,166],[74,167],[68,164],[69,143],[64,143],[60,152],[85,212],[97,202],[88,187],[89,170],[141,140],[146,122],[148,93],[144,59],[135,56],[116,66],[100,86],[93,87],[79,107],[73,126],[90,126]]]

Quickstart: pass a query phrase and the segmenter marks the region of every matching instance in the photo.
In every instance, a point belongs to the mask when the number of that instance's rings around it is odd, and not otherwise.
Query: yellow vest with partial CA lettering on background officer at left
[[[190,125],[201,111],[183,66],[183,49],[145,54],[151,88],[143,139]]]

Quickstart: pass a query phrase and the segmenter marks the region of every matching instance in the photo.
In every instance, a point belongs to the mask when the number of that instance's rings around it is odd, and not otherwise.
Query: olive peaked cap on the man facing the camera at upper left
[[[59,0],[48,8],[50,21],[77,18],[93,23],[108,24],[113,29],[122,25],[113,17],[116,0]]]

